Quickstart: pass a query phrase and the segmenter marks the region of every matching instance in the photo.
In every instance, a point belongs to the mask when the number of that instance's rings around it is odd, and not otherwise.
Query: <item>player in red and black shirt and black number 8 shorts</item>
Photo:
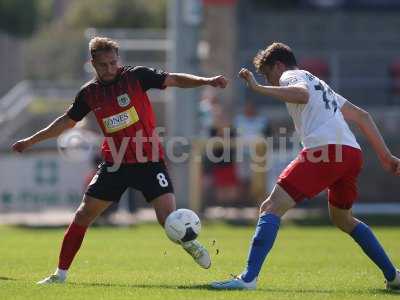
[[[176,209],[175,196],[164,151],[155,130],[155,117],[147,96],[149,89],[167,87],[225,88],[227,80],[219,75],[199,77],[183,73],[166,73],[147,67],[122,66],[118,44],[104,37],[89,43],[96,76],[78,92],[67,112],[32,136],[12,147],[23,152],[43,140],[54,138],[75,126],[90,111],[94,113],[105,136],[102,145],[104,162],[99,166],[65,232],[58,268],[38,284],[63,283],[78,252],[88,226],[113,202],[118,202],[127,187],[140,190],[154,207],[158,222]],[[211,259],[197,241],[183,242],[183,249],[203,268]]]

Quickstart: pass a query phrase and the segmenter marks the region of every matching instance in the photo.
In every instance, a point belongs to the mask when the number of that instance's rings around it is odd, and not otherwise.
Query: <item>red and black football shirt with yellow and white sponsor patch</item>
[[[147,67],[123,66],[112,82],[93,79],[83,85],[67,115],[77,122],[93,111],[106,137],[102,145],[105,161],[115,161],[110,142],[117,152],[125,143],[122,163],[162,160],[164,151],[155,134],[155,115],[146,92],[164,89],[167,75]],[[138,137],[145,140],[138,142]]]

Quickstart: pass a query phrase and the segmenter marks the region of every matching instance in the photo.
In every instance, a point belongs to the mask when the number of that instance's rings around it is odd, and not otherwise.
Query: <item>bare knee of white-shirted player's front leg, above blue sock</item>
[[[260,214],[272,213],[277,216],[283,216],[290,208],[294,207],[296,202],[281,187],[276,184],[271,195],[265,200],[260,207]]]

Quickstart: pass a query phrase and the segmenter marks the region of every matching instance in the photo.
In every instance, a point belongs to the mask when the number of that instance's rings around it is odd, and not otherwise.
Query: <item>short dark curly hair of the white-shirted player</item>
[[[277,61],[286,67],[297,66],[296,58],[292,49],[284,43],[274,42],[266,49],[258,51],[253,59],[257,72],[263,73],[266,66],[273,66]]]

